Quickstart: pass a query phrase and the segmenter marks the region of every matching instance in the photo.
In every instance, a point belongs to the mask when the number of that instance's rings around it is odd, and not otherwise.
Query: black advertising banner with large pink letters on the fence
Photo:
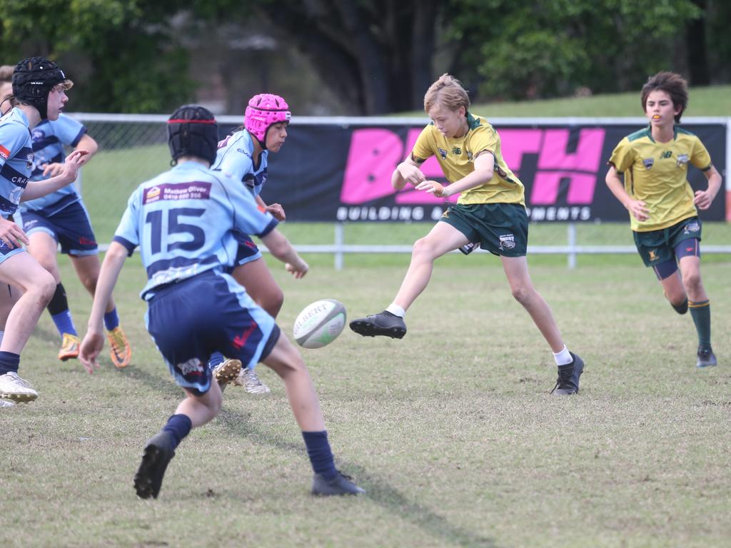
[[[629,213],[605,184],[607,160],[638,125],[494,124],[505,161],[526,186],[531,221],[621,221]],[[297,124],[287,142],[269,157],[265,202],[279,202],[289,221],[436,221],[447,200],[407,187],[394,191],[391,173],[412,150],[423,125]],[[726,170],[727,131],[723,123],[683,123]],[[427,178],[444,182],[436,159],[425,161]],[[705,175],[689,167],[694,190],[707,188]],[[707,221],[725,219],[724,191]],[[450,197],[456,201],[457,197]]]

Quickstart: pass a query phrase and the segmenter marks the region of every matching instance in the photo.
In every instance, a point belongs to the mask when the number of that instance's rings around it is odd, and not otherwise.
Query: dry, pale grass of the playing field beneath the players
[[[408,260],[386,256],[368,266],[349,258],[337,272],[331,258],[306,258],[315,266],[300,281],[270,265],[286,294],[286,334],[298,311],[322,297],[343,301],[351,317],[379,310]],[[134,345],[129,368],[115,370],[105,358],[88,376],[75,362],[57,362],[47,315],[23,353],[20,372],[40,397],[0,414],[0,544],[727,545],[728,257],[704,259],[721,364],[712,370],[694,368],[690,317],[672,311],[637,260],[567,270],[534,259],[535,285],[569,347],[586,359],[577,397],[548,395],[548,347],[510,296],[497,259],[450,256],[409,311],[404,340],[346,330],[325,349],[303,351],[338,466],[365,497],[308,495],[300,433],[281,383],[262,367],[272,394],[227,390],[219,418],[178,449],[160,498],[140,501],[132,476],[141,448],[181,390],[143,327],[135,255],[115,292]],[[83,327],[90,299],[65,257],[61,270]]]

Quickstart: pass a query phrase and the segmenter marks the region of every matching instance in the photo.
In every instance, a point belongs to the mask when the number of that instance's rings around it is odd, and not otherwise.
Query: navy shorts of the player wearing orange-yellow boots
[[[61,253],[76,256],[99,253],[91,221],[81,202],[69,204],[52,215],[29,210],[21,215],[21,220],[27,235],[46,232],[61,244]]]

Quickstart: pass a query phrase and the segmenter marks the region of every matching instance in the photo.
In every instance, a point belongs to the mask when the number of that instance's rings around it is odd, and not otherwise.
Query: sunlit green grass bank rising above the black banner
[[[478,103],[471,108],[487,118],[585,116],[643,116],[640,90],[625,94],[605,94],[590,97],[567,97],[542,101]],[[423,111],[406,115],[423,116]],[[731,85],[691,88],[688,109],[684,116],[731,116]]]

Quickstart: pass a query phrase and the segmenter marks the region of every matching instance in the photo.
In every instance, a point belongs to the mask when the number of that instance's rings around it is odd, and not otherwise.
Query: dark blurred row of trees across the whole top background
[[[473,100],[636,90],[672,69],[731,80],[727,0],[0,0],[7,64],[55,58],[72,110],[300,114],[420,110],[442,72]],[[290,100],[291,99],[291,100]]]

